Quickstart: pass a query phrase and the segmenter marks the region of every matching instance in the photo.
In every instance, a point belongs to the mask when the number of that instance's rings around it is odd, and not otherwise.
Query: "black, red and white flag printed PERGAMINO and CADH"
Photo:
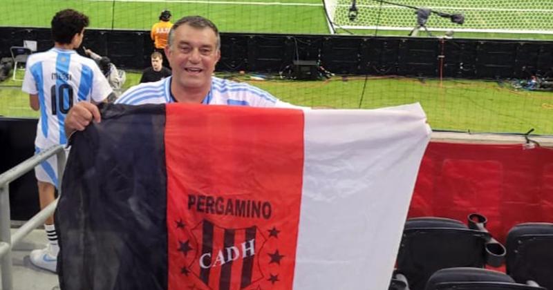
[[[102,108],[56,211],[62,289],[387,289],[430,136],[418,104]]]

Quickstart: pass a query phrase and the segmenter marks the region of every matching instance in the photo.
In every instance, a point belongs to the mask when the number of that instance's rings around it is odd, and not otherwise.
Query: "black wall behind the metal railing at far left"
[[[37,119],[0,117],[0,173],[16,166],[35,153]],[[39,212],[39,194],[35,171],[10,183],[12,220],[29,220]]]

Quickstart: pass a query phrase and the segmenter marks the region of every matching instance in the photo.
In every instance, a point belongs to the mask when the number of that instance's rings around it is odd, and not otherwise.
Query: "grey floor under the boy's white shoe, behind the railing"
[[[15,229],[12,229],[12,233],[14,232]],[[21,240],[15,246],[15,249],[12,249],[13,290],[59,289],[55,273],[39,269],[33,266],[29,260],[31,250],[44,248],[45,245],[46,233],[44,233],[44,229],[36,229]]]

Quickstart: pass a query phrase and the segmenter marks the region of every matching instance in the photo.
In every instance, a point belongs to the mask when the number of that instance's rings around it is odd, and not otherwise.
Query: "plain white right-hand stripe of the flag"
[[[305,112],[294,289],[388,289],[430,139],[419,104]]]

